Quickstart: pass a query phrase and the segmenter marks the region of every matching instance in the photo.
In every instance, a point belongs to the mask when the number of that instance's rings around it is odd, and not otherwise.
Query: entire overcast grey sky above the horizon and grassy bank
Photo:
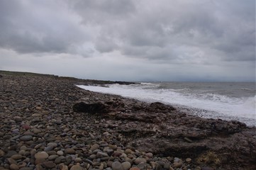
[[[255,0],[0,0],[0,69],[255,81]]]

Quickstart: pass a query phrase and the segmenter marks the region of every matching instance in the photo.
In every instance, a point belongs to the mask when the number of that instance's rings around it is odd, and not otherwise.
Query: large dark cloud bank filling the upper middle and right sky
[[[136,2],[77,1],[84,24],[100,27],[96,50],[119,50],[149,60],[187,60],[193,48],[208,60],[216,55],[222,60],[255,60],[255,1]],[[122,5],[128,7],[120,11]]]

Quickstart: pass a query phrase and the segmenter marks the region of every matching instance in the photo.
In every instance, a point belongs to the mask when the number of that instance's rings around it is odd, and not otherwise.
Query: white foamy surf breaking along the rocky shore
[[[207,118],[222,118],[226,120],[236,119],[247,125],[256,125],[256,97],[231,98],[220,94],[189,93],[184,89],[157,89],[159,84],[139,85],[109,85],[102,86],[79,86],[82,89],[96,91],[105,94],[117,94],[125,97],[136,98],[142,101],[160,101],[177,106],[186,106],[205,111],[202,116]],[[154,89],[155,88],[155,89]]]

